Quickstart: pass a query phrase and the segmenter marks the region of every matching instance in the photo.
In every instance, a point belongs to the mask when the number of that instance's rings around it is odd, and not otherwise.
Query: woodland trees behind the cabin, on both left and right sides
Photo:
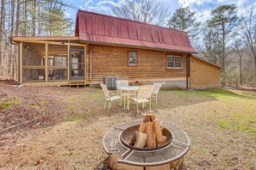
[[[18,50],[12,36],[73,35],[74,23],[65,16],[72,7],[62,0],[1,0],[0,5],[0,76],[17,79]],[[172,14],[158,0],[125,0],[111,10],[122,18],[188,32],[198,56],[222,66],[222,84],[256,86],[255,1],[243,9],[219,6],[206,21],[198,21],[189,7]]]

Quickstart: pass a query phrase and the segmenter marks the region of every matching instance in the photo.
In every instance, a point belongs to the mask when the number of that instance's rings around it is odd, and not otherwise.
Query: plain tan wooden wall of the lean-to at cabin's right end
[[[190,58],[190,88],[221,87],[220,68],[197,58]]]

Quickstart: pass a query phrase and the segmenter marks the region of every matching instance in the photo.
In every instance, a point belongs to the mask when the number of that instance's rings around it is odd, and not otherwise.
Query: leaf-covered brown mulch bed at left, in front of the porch
[[[0,130],[34,118],[41,124],[58,120],[62,106],[53,88],[17,88],[11,81],[0,82]]]

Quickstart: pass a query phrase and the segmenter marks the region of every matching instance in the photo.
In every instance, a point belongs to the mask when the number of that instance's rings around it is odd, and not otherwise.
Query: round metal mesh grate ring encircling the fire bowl
[[[138,167],[155,167],[166,164],[170,165],[172,162],[180,161],[190,149],[190,140],[186,133],[177,126],[165,121],[162,121],[160,125],[172,131],[174,136],[172,143],[165,146],[165,148],[143,151],[124,146],[120,140],[122,131],[140,123],[141,121],[122,124],[108,131],[103,137],[103,149],[106,153],[109,155],[113,153],[121,155],[118,162],[122,164]]]

